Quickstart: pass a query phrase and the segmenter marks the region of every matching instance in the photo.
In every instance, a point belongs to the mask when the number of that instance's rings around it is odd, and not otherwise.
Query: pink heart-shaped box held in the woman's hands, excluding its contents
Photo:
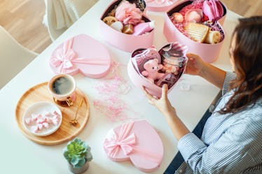
[[[164,45],[163,48],[167,48],[168,46],[170,46],[172,44],[179,45],[179,46],[181,45],[180,43],[174,42],[174,43],[168,43],[167,45]],[[186,45],[183,45],[183,47],[186,47]],[[159,54],[160,54],[161,50],[163,50],[163,48],[161,48],[158,51]],[[128,64],[127,64],[128,76],[135,86],[137,86],[139,88],[144,86],[144,87],[146,87],[147,92],[149,92],[153,96],[160,98],[160,96],[162,95],[162,88],[157,86],[156,84],[150,82],[149,80],[146,79],[146,77],[144,77],[143,75],[138,73],[139,68],[137,68],[137,65],[132,61],[133,58],[135,57],[135,53],[139,52],[141,50],[146,50],[146,49],[140,48],[140,49],[137,49],[134,52],[132,52],[131,59],[130,59],[130,61],[128,61]],[[184,48],[184,55],[186,54],[186,50],[187,50],[187,47]],[[160,59],[159,59],[158,62],[162,63],[161,58],[162,58],[162,55],[160,54]],[[185,59],[185,62],[184,62],[185,65],[181,69],[182,71],[179,71],[179,74],[176,75],[177,81],[181,78],[181,75],[184,73],[184,70],[185,70],[185,67],[186,67],[186,63],[187,63],[188,59],[187,59],[187,57],[184,57],[184,59]],[[168,92],[170,92],[174,88],[174,85],[177,84],[177,81],[172,85],[172,87],[169,87]]]

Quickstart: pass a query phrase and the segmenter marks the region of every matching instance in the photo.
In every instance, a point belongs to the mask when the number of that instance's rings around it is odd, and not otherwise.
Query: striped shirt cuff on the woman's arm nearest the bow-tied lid
[[[202,142],[194,133],[188,133],[182,138],[180,138],[177,147],[182,154],[185,161],[188,159],[198,150],[201,150],[207,145]]]

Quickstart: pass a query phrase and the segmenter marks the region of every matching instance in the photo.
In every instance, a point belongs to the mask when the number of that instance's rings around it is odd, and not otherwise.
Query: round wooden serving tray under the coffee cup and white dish
[[[88,123],[88,118],[90,115],[88,98],[81,92],[81,90],[76,89],[76,100],[74,101],[74,105],[70,107],[62,107],[58,106],[62,112],[62,124],[57,131],[50,134],[49,136],[34,136],[32,133],[28,132],[22,123],[22,116],[25,113],[25,110],[32,106],[32,104],[39,101],[49,101],[55,103],[53,101],[53,96],[48,92],[48,82],[43,82],[39,85],[36,85],[25,92],[22,95],[15,110],[15,119],[18,123],[18,126],[22,133],[34,141],[35,143],[39,143],[41,145],[57,145],[60,143],[67,142],[76,136],[85,128],[85,125]],[[69,122],[74,119],[76,114],[76,110],[78,108],[78,104],[83,98],[83,103],[81,108],[78,110],[78,114],[76,119],[78,121],[77,126],[73,126]],[[55,103],[56,104],[56,103]]]

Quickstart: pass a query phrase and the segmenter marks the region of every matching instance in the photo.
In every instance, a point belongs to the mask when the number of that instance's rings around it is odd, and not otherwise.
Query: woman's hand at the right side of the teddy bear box
[[[185,73],[190,75],[200,75],[205,66],[205,62],[202,61],[201,57],[193,53],[186,54],[188,62],[186,64]]]

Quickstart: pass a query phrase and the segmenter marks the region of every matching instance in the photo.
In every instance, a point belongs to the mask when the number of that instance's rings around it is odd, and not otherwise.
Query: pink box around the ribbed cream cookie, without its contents
[[[193,52],[197,55],[200,55],[200,57],[204,61],[212,63],[219,58],[219,53],[221,51],[223,41],[216,44],[195,42],[191,40],[191,38],[188,38],[187,36],[182,34],[179,31],[179,29],[177,29],[177,27],[175,27],[172,21],[170,20],[170,16],[173,13],[179,12],[181,8],[184,8],[184,6],[187,6],[192,2],[193,1],[182,1],[181,3],[176,3],[169,11],[167,11],[167,13],[165,13],[165,23],[164,23],[163,33],[165,35],[165,38],[167,38],[167,41],[169,42],[178,41],[181,44],[188,45],[188,52]],[[223,24],[223,21],[226,18],[226,6],[223,3],[221,4],[223,6],[224,14],[223,17],[221,17],[221,19],[219,20],[218,26],[223,31],[223,27],[221,26],[221,23]],[[223,34],[225,35],[224,31]]]

